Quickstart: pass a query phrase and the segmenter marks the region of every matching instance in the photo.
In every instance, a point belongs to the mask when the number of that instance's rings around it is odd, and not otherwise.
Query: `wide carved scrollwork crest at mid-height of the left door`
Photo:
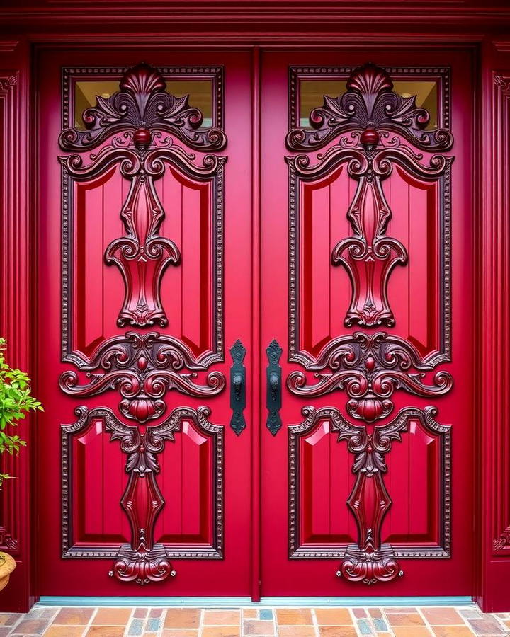
[[[108,389],[119,391],[119,409],[127,418],[145,423],[166,411],[166,391],[177,389],[197,398],[214,396],[225,388],[222,372],[209,372],[205,385],[193,379],[207,369],[207,359],[197,361],[186,345],[158,332],[125,335],[106,340],[87,365],[88,382],[79,384],[74,370],[60,376],[60,389],[71,396],[96,396]],[[184,369],[190,370],[183,373]]]

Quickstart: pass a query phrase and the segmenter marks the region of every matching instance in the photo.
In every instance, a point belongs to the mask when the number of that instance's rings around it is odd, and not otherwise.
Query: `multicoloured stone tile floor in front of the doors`
[[[510,613],[477,607],[44,607],[0,613],[0,637],[484,637],[510,635]]]

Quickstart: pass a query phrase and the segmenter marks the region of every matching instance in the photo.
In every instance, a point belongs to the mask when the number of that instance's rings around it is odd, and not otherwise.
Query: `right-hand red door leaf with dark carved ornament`
[[[263,595],[472,592],[466,64],[263,57]]]

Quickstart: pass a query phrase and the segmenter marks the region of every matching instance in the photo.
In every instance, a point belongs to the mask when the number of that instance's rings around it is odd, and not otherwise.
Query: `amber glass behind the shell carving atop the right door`
[[[416,104],[429,111],[430,121],[427,128],[436,128],[438,124],[438,87],[434,80],[404,80],[393,82],[395,93],[402,97],[416,96]],[[300,125],[310,127],[310,113],[322,106],[324,95],[337,97],[346,92],[345,80],[301,80],[300,81]]]

